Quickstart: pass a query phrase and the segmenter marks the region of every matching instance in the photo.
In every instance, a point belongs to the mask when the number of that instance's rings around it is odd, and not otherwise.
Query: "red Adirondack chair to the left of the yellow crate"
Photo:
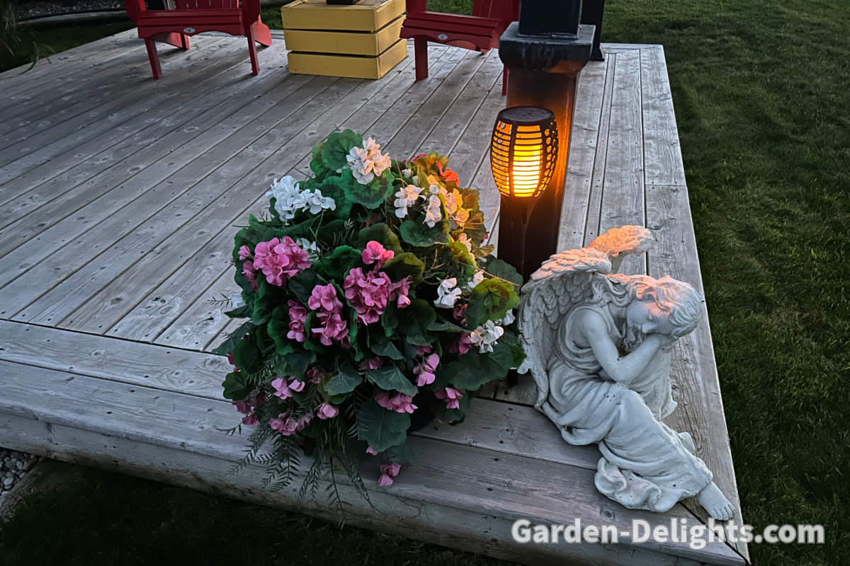
[[[248,38],[251,70],[259,73],[257,46],[271,45],[269,27],[260,20],[260,0],[176,0],[177,9],[149,10],[144,0],[124,0],[127,14],[139,27],[139,37],[148,48],[150,69],[154,78],[162,76],[156,42],[176,48],[189,48],[189,36],[201,31],[223,31],[231,36]]]

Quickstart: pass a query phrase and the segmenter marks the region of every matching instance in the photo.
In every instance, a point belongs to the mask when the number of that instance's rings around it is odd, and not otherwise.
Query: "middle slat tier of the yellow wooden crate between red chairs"
[[[337,53],[377,57],[399,41],[404,16],[378,31],[284,30],[286,48],[302,53]]]

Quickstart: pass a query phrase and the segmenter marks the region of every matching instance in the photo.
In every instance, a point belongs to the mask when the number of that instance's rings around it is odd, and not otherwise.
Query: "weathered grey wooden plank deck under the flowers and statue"
[[[228,474],[245,440],[220,432],[238,415],[221,399],[225,364],[208,353],[228,329],[209,300],[236,289],[234,225],[345,127],[397,156],[450,154],[495,212],[485,150],[505,104],[501,62],[433,46],[426,81],[413,81],[412,57],[378,81],[289,75],[275,34],[252,77],[244,39],[197,36],[188,53],[161,49],[153,81],[133,33],[0,75],[0,446],[333,518],[321,502],[263,490],[258,468]],[[659,244],[626,270],[701,291],[663,49],[607,50],[579,81],[561,247],[644,225]],[[707,317],[673,371],[668,422],[694,436],[740,523]],[[745,546],[717,542],[515,543],[517,518],[622,529],[705,518],[693,502],[653,514],[600,496],[598,450],[564,444],[533,393],[528,382],[494,390],[461,426],[416,433],[416,462],[371,490],[378,512],[343,486],[348,522],[528,564],[745,563]]]

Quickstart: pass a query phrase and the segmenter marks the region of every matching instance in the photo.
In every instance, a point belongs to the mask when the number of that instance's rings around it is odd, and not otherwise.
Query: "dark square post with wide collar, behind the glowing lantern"
[[[580,17],[581,0],[522,0],[519,22],[507,27],[499,44],[499,57],[510,71],[508,108],[549,109],[557,122],[557,161],[546,190],[526,211],[525,229],[518,229],[513,210],[500,214],[498,255],[519,255],[521,245],[524,272],[534,272],[558,251],[575,83],[593,45],[594,27],[581,25]]]

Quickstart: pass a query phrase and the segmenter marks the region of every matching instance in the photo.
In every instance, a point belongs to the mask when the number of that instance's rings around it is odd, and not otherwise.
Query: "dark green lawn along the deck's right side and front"
[[[753,561],[847,563],[848,3],[606,8],[605,41],[665,46],[745,521],[825,526],[824,545],[753,544]],[[16,513],[0,564],[160,563],[167,550],[187,564],[491,563],[101,472],[79,481]]]

